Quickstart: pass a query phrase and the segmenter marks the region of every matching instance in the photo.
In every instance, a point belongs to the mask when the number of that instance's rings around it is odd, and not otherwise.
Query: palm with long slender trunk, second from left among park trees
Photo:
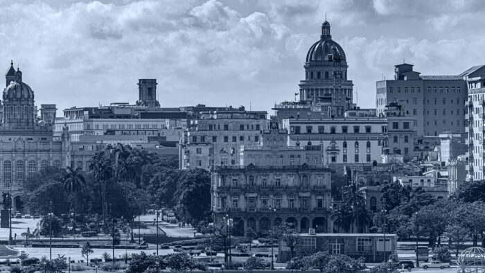
[[[105,157],[105,152],[96,152],[96,155],[94,155],[89,163],[89,170],[100,184],[101,198],[103,202],[103,222],[106,227],[106,182],[109,181],[109,179],[112,179],[114,170],[111,166],[111,161]]]

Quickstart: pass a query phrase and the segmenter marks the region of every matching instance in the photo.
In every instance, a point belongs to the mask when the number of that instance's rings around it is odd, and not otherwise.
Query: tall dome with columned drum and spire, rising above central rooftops
[[[320,39],[306,54],[305,79],[300,81],[300,102],[320,106],[328,117],[344,116],[353,99],[353,83],[347,80],[347,61],[344,49],[333,41],[330,23],[321,24]],[[330,106],[330,107],[325,107]]]

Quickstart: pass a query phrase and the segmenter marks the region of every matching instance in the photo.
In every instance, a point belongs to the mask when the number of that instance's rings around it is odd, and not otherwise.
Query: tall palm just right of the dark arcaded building
[[[367,224],[368,213],[365,202],[365,190],[357,182],[352,182],[342,188],[344,202],[351,207],[353,212],[352,222],[358,229],[363,229]],[[353,232],[353,225],[352,225]]]

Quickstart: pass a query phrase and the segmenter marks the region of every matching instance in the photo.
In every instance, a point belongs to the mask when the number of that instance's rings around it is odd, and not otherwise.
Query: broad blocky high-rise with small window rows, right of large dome
[[[407,116],[416,118],[418,136],[465,131],[466,82],[462,76],[421,76],[412,64],[398,64],[394,80],[376,82],[377,114],[398,102]]]

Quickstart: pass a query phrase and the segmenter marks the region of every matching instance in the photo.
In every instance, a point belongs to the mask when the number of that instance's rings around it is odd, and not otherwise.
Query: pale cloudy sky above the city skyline
[[[13,60],[36,104],[135,103],[157,78],[162,107],[293,100],[321,23],[346,53],[354,102],[376,107],[395,64],[457,75],[485,64],[482,0],[0,0],[0,64]],[[1,68],[1,66],[0,66]],[[358,92],[358,96],[355,96]]]

